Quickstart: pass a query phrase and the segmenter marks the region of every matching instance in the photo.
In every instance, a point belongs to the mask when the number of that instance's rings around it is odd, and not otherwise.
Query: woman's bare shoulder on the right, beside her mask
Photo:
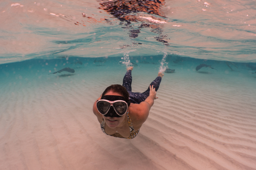
[[[129,107],[129,115],[132,123],[142,125],[148,118],[150,107],[147,102],[141,102],[140,104],[131,103]]]

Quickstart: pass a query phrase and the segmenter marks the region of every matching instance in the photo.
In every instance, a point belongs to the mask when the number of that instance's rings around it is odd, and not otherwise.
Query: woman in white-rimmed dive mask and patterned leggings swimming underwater
[[[94,102],[93,113],[107,135],[126,139],[137,136],[148,118],[154,99],[157,99],[157,90],[164,74],[159,72],[145,92],[134,93],[131,92],[132,69],[127,68],[123,85],[109,86]]]

